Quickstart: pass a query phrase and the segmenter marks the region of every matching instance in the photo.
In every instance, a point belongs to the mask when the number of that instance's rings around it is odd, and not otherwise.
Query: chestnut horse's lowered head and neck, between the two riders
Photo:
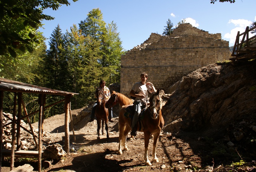
[[[126,97],[124,94],[113,91],[110,98],[106,102],[106,108],[111,108],[119,103],[119,106],[132,105],[133,100]]]

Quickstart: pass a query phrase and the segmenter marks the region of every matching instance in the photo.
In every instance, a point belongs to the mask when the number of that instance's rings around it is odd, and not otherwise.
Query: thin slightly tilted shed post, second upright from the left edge
[[[17,99],[17,92],[14,93],[13,99],[13,114],[12,114],[12,132],[11,132],[11,164],[10,164],[10,171],[14,168],[14,151],[15,151],[15,120],[16,120],[16,100]]]

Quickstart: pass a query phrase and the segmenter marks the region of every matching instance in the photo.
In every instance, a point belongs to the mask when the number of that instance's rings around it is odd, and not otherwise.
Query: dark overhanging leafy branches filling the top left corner
[[[67,0],[0,0],[0,55],[32,52],[40,44],[36,30],[42,20],[54,19],[43,10],[57,10],[62,4],[70,5]]]

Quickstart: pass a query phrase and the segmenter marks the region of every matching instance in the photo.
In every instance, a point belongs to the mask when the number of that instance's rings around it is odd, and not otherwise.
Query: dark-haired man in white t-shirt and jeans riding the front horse
[[[136,136],[137,134],[137,121],[139,118],[139,114],[141,112],[141,107],[142,105],[147,103],[147,97],[148,97],[148,91],[150,93],[156,92],[156,89],[154,85],[151,82],[146,82],[148,79],[148,74],[147,73],[141,73],[140,74],[141,81],[136,82],[132,88],[130,95],[132,97],[135,97],[134,100],[134,108],[135,108],[135,113],[132,119],[132,124],[131,124],[131,136]]]

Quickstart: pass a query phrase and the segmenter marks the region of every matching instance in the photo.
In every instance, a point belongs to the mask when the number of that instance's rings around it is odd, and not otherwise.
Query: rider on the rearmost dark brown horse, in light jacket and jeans
[[[106,101],[108,101],[108,99],[110,98],[110,91],[108,89],[108,87],[105,86],[106,82],[104,80],[101,80],[99,82],[99,88],[102,90],[102,92],[104,92],[104,95],[106,97]],[[96,105],[98,103],[96,102],[94,105],[93,105],[93,108],[92,108],[92,112],[91,112],[91,119],[89,120],[89,122],[92,122],[94,120],[94,116],[95,116],[95,109],[96,109]],[[112,108],[108,108],[108,118],[109,118],[109,122],[113,122],[112,121],[112,117],[113,117],[113,114],[112,114]]]

